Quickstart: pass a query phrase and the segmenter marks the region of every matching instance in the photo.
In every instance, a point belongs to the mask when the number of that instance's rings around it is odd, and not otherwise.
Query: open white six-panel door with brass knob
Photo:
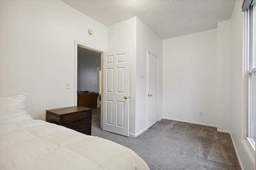
[[[108,51],[103,58],[103,130],[129,136],[129,51]]]

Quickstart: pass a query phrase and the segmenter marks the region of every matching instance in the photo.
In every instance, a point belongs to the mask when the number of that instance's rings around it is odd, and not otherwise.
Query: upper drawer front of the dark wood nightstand
[[[83,114],[83,115],[77,115],[72,117],[63,118],[62,125],[68,128],[72,127],[80,127],[87,124],[90,124],[90,118],[91,114]]]

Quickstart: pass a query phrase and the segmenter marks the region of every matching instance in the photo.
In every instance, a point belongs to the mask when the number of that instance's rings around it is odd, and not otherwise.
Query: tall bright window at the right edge
[[[247,117],[247,140],[255,150],[256,129],[256,7],[255,0],[245,11],[244,39],[245,39],[245,68],[246,68],[246,117]]]

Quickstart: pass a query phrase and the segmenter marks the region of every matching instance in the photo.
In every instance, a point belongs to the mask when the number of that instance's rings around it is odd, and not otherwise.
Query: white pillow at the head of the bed
[[[0,97],[0,124],[32,119],[26,111],[26,100],[27,94]]]

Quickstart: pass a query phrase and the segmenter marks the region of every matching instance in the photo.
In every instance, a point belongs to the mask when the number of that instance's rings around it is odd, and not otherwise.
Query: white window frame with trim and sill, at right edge
[[[250,65],[252,62],[252,57],[250,55],[254,55],[256,53],[256,5],[255,5],[255,0],[252,1],[252,12],[250,10],[250,7],[248,10],[244,11],[244,29],[243,29],[243,67],[244,67],[244,84],[243,84],[243,98],[244,98],[244,103],[243,103],[243,129],[242,129],[242,134],[243,134],[243,140],[241,141],[242,146],[244,147],[244,150],[246,151],[246,154],[255,170],[255,142],[248,137],[249,135],[249,74],[251,72],[255,72],[256,68],[252,68],[252,65]],[[251,17],[252,15],[252,17]],[[250,25],[250,24],[253,25]],[[252,29],[252,33],[250,33]],[[252,41],[250,41],[252,40]],[[254,57],[254,60],[256,58]],[[255,65],[254,65],[255,67]],[[256,93],[254,94],[256,95]],[[256,130],[256,127],[255,127]]]

